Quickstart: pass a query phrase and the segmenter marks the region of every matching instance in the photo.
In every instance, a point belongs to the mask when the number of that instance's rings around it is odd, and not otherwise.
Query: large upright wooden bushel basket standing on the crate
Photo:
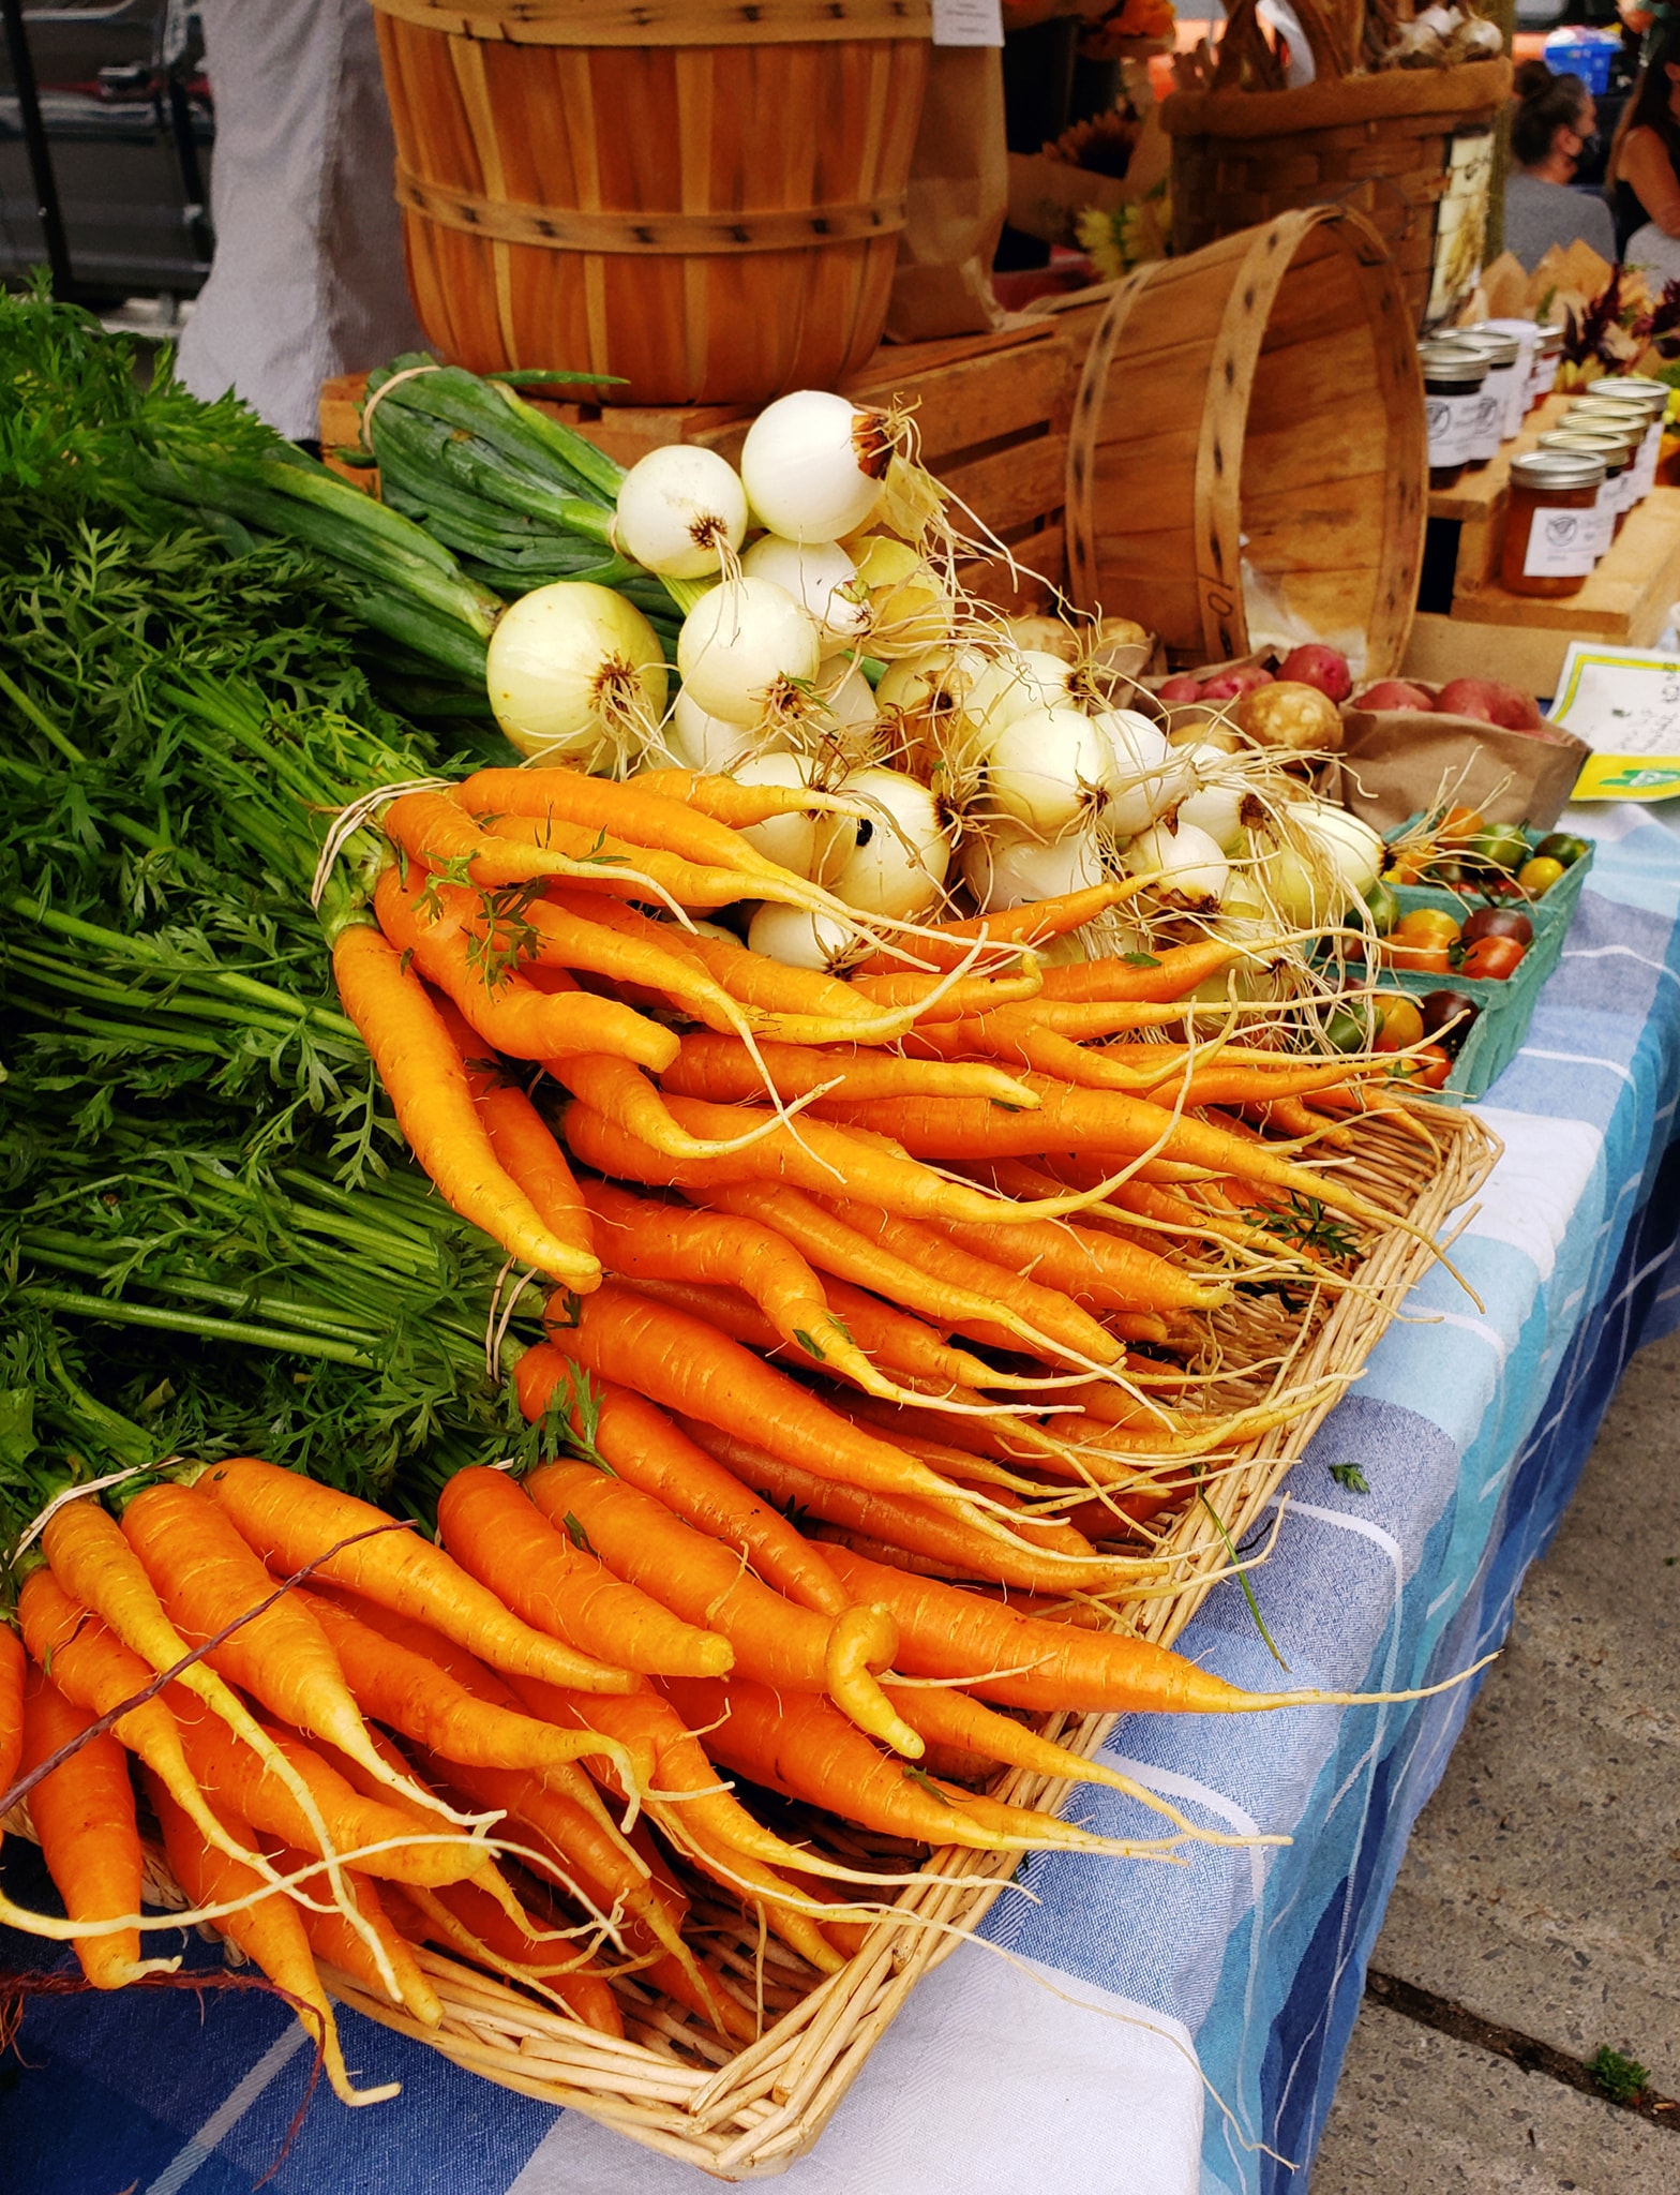
[[[831,389],[879,342],[928,0],[375,0],[408,283],[476,373]]]

